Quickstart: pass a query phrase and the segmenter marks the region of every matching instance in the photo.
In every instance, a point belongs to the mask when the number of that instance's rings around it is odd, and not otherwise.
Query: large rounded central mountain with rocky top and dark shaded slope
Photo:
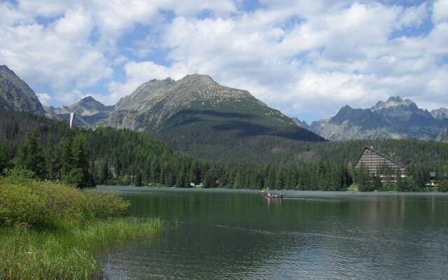
[[[173,148],[208,159],[274,153],[281,139],[325,140],[246,90],[200,74],[150,80],[121,99],[97,125],[146,131]]]

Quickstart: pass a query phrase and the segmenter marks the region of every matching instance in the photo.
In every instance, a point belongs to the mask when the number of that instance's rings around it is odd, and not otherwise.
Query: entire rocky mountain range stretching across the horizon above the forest
[[[219,85],[200,74],[181,80],[149,80],[114,106],[84,97],[69,109],[92,126],[145,131],[173,148],[206,158],[208,153],[224,156],[262,143],[269,143],[269,152],[274,153],[281,139],[448,141],[448,110],[444,108],[429,112],[410,99],[391,97],[370,109],[346,105],[335,116],[308,125],[266,106],[246,90]],[[43,106],[7,66],[0,66],[0,110],[69,118],[66,109]]]

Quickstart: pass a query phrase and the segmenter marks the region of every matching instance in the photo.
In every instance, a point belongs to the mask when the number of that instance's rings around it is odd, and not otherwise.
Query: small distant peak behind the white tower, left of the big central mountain
[[[77,116],[82,117],[85,122],[94,125],[100,120],[108,118],[109,114],[115,109],[115,106],[105,106],[93,97],[88,96],[70,105],[69,109],[76,113]],[[64,108],[51,108],[50,111],[57,113],[64,120],[69,120],[70,118],[69,112]],[[76,118],[74,122],[78,125],[83,125]]]

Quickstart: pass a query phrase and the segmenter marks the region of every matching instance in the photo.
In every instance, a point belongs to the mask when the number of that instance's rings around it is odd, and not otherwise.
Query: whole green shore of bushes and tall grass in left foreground
[[[19,177],[0,179],[0,202],[0,279],[102,279],[94,253],[163,228],[125,218],[117,195]]]

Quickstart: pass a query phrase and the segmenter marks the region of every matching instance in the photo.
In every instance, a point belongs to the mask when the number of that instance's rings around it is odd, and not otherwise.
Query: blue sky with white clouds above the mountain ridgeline
[[[448,108],[448,0],[0,0],[0,64],[47,106],[190,73],[306,120]]]

